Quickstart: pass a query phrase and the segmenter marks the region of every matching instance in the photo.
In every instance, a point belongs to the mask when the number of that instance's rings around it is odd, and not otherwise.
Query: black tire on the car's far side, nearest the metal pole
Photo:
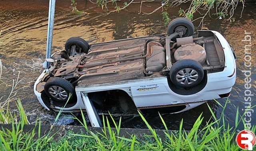
[[[72,45],[76,45],[77,53],[88,53],[89,44],[80,37],[71,37],[65,43],[65,50],[70,55]]]

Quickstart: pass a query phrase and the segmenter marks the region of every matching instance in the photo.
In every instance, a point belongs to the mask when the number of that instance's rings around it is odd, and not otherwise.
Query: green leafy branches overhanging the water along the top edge
[[[235,18],[233,18],[234,11],[236,10],[238,4],[242,4],[242,12],[244,10],[244,3],[245,0],[162,0],[162,2],[159,3],[154,10],[151,12],[144,12],[143,11],[143,4],[145,2],[155,2],[156,0],[141,0],[141,1],[134,1],[134,0],[89,0],[91,3],[98,5],[102,8],[102,10],[112,7],[114,10],[110,10],[111,12],[120,12],[121,10],[127,10],[128,6],[132,4],[140,4],[140,10],[138,11],[139,14],[142,13],[142,15],[150,15],[157,11],[162,12],[162,16],[165,22],[169,21],[168,17],[168,9],[171,7],[178,7],[181,4],[190,4],[188,8],[180,8],[178,11],[179,16],[186,17],[190,20],[201,20],[200,25],[203,25],[204,18],[208,15],[211,16],[211,14],[217,16],[217,18],[228,20],[228,21],[234,21]],[[82,13],[76,8],[76,0],[71,0],[73,11]],[[112,6],[110,6],[110,4]],[[110,6],[110,7],[109,7]],[[200,17],[194,18],[194,14],[199,14]]]

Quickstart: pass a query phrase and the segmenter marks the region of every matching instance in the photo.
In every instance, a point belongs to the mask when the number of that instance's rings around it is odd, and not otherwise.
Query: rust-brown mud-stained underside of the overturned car
[[[54,69],[51,75],[63,78],[68,76],[69,79],[75,80],[71,80],[73,84],[79,86],[150,78],[153,75],[160,77],[162,75],[157,73],[169,71],[172,63],[177,61],[174,53],[170,53],[174,48],[176,51],[179,50],[178,43],[171,40],[173,36],[163,38],[163,35],[158,35],[91,44],[88,54],[81,53],[69,57],[65,57],[66,55],[63,55],[65,51],[61,51],[52,57],[58,61],[52,64]],[[164,41],[166,48],[162,44]],[[188,41],[192,42],[191,37],[178,41],[182,45]],[[203,69],[208,72],[222,70],[224,55],[216,37],[212,35],[196,37],[193,38],[193,43],[205,46],[206,51],[210,51],[210,54],[214,52],[219,58],[217,65],[209,59],[212,55],[206,56],[206,61],[202,62],[209,63],[202,63]]]

